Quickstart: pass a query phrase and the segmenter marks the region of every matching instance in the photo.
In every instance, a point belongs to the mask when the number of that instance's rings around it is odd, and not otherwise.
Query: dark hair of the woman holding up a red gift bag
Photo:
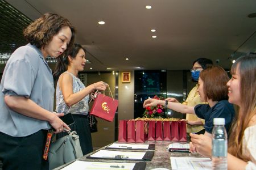
[[[84,52],[86,53],[86,50],[82,48],[80,44],[75,43],[72,46],[71,50],[65,52],[63,55],[57,58],[55,71],[53,72],[53,78],[55,80],[59,79],[59,76],[68,69],[68,65],[69,65],[68,56],[72,58],[76,58],[76,55],[80,49],[83,49]]]

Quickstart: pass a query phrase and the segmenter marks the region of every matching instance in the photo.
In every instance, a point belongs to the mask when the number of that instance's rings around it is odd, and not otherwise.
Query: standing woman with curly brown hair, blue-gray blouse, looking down
[[[9,58],[0,90],[0,160],[3,169],[48,169],[43,160],[47,130],[69,127],[53,112],[52,70],[46,57],[69,50],[75,28],[60,15],[47,13],[24,29],[29,42]]]

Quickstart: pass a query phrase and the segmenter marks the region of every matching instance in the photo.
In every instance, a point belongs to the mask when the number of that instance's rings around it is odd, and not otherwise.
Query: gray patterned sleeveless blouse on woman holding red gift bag
[[[69,74],[73,78],[73,93],[79,92],[85,88],[84,84],[81,82],[79,78],[77,78],[72,73],[69,73],[66,71],[63,74]],[[89,111],[89,105],[88,105],[89,95],[85,96],[84,99],[80,100],[78,103],[73,104],[71,107],[68,107],[68,105],[64,101],[64,97],[62,94],[62,91],[59,87],[59,81],[57,82],[56,87],[56,112],[57,113],[72,113],[72,114],[84,114],[87,115]]]

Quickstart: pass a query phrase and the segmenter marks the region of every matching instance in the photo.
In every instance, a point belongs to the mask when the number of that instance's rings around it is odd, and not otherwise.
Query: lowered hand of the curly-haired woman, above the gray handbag
[[[59,117],[64,116],[64,113],[56,113],[53,112],[55,116],[53,117],[52,121],[49,122],[49,124],[52,126],[53,129],[55,129],[54,133],[60,133],[61,131],[65,129],[71,130],[67,124],[65,124]]]

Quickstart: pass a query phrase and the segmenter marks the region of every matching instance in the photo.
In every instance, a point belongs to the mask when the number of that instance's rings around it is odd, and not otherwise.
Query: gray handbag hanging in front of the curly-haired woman
[[[76,134],[76,131],[68,131],[68,133],[49,146],[49,169],[54,169],[83,156],[79,135]]]

